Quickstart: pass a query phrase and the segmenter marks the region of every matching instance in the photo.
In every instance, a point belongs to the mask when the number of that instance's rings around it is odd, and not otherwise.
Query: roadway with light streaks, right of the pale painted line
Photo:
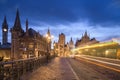
[[[80,55],[67,61],[79,80],[120,80],[120,60]]]

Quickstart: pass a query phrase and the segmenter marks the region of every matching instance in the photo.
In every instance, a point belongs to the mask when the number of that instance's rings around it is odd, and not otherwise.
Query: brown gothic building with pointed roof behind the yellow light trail
[[[95,38],[90,39],[90,37],[87,34],[87,31],[85,31],[85,34],[82,35],[82,38],[80,40],[79,39],[76,40],[75,47],[91,45],[98,42],[99,41],[97,41]]]

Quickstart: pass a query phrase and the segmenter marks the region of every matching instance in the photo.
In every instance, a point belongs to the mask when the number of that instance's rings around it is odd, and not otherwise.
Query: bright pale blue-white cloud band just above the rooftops
[[[73,38],[74,42],[76,42],[76,39],[77,38],[80,39],[82,37],[82,34],[84,34],[86,30],[90,38],[95,37],[98,41],[110,40],[112,38],[120,36],[119,26],[113,26],[113,27],[103,27],[101,25],[90,26],[89,22],[87,21],[85,22],[78,21],[66,25],[58,24],[54,26],[48,24],[30,25],[30,27],[40,31],[40,33],[43,35],[46,34],[47,29],[49,27],[51,34],[54,35],[53,40],[55,41],[58,41],[58,37],[60,33],[64,33],[66,35],[66,42],[68,42],[71,37]]]

